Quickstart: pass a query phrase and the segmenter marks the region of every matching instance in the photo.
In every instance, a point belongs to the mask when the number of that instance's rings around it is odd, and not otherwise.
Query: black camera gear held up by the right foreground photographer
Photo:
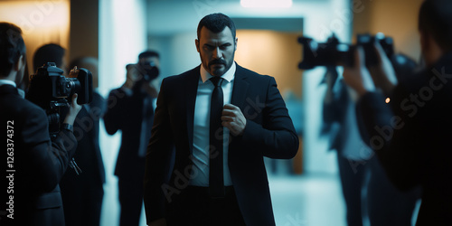
[[[316,66],[353,67],[354,50],[357,46],[363,46],[366,67],[376,65],[378,58],[373,48],[374,42],[381,44],[388,58],[391,59],[394,54],[392,38],[385,37],[382,33],[377,33],[375,36],[358,34],[356,45],[340,43],[334,34],[325,43],[318,43],[307,37],[299,37],[298,42],[303,45],[303,61],[298,64],[298,68],[304,70],[313,69]]]

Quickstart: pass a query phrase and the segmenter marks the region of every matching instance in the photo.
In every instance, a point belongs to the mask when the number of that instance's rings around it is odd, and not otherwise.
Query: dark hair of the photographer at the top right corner
[[[419,10],[419,31],[430,34],[443,51],[452,51],[452,1],[424,1]]]

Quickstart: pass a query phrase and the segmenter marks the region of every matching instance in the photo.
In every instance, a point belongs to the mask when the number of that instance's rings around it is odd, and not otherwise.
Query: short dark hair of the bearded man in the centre
[[[221,33],[226,26],[231,29],[232,38],[235,39],[235,24],[229,16],[221,13],[208,14],[198,24],[198,40],[201,36],[202,27],[209,29],[212,33]]]

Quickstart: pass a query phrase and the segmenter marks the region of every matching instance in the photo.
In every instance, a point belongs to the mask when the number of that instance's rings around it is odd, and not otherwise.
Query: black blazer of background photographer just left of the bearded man
[[[121,146],[115,174],[118,176],[134,176],[141,180],[145,171],[145,154],[140,156],[138,149],[143,120],[147,120],[145,139],[151,137],[151,127],[154,120],[152,98],[146,93],[131,89],[126,93],[124,89],[113,89],[108,95],[108,108],[104,115],[105,128],[109,135],[122,131]],[[144,110],[144,99],[148,104]],[[147,142],[146,142],[147,143]]]

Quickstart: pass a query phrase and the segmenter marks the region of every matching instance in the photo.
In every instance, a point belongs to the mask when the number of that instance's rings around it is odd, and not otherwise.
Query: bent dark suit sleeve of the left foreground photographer
[[[33,171],[32,186],[38,192],[50,192],[60,183],[61,177],[68,168],[69,160],[74,155],[77,140],[72,132],[61,130],[51,141],[47,118],[42,110],[32,109],[27,113],[22,128],[25,150],[28,153],[29,169]]]

